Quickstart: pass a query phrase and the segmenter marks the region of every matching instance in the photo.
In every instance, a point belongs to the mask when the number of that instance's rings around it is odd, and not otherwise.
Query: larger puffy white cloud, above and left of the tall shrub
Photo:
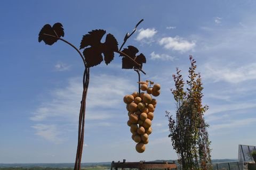
[[[161,40],[159,40],[159,44],[163,45],[166,49],[172,49],[177,50],[181,53],[187,52],[188,50],[194,49],[196,46],[195,41],[189,42],[188,40],[185,40],[184,38],[181,38],[179,36],[173,37],[164,37]]]

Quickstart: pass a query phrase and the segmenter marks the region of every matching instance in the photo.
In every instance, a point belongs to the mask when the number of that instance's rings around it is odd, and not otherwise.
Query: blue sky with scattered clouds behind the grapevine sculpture
[[[147,58],[142,80],[162,85],[146,151],[135,151],[123,104],[137,90],[137,73],[122,70],[116,54],[108,66],[91,69],[82,162],[177,159],[165,111],[175,114],[172,74],[179,67],[187,77],[189,55],[210,107],[212,158],[237,158],[239,144],[256,141],[255,8],[255,1],[2,1],[0,163],[75,161],[83,63],[61,41],[38,43],[43,25],[61,22],[77,47],[93,29],[121,45],[140,19],[126,46]]]

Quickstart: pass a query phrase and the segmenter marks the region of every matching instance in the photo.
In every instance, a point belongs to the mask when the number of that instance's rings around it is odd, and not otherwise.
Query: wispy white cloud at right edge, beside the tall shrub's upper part
[[[256,63],[243,66],[219,66],[215,63],[204,65],[204,77],[214,82],[224,81],[228,83],[241,83],[256,79]]]

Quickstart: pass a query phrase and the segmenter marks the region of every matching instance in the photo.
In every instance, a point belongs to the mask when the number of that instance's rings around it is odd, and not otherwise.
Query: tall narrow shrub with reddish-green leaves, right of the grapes
[[[166,111],[172,146],[178,154],[183,169],[211,169],[210,141],[208,124],[203,115],[209,108],[202,105],[203,87],[200,73],[196,73],[196,61],[189,56],[191,66],[189,76],[184,82],[181,70],[173,75],[175,89],[171,89],[177,111],[175,119]],[[187,88],[185,89],[185,84]]]

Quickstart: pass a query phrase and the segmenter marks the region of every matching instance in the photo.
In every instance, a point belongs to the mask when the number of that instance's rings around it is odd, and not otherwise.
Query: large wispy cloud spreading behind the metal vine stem
[[[87,95],[86,121],[98,121],[98,126],[111,126],[107,120],[115,117],[117,106],[124,107],[122,99],[127,93],[127,86],[133,87],[129,79],[94,75]],[[36,134],[49,141],[58,141],[60,121],[61,126],[68,126],[62,131],[76,129],[81,94],[82,83],[78,78],[71,78],[66,87],[53,90],[30,117],[30,120],[37,122],[33,126]],[[52,124],[46,125],[45,122]]]

